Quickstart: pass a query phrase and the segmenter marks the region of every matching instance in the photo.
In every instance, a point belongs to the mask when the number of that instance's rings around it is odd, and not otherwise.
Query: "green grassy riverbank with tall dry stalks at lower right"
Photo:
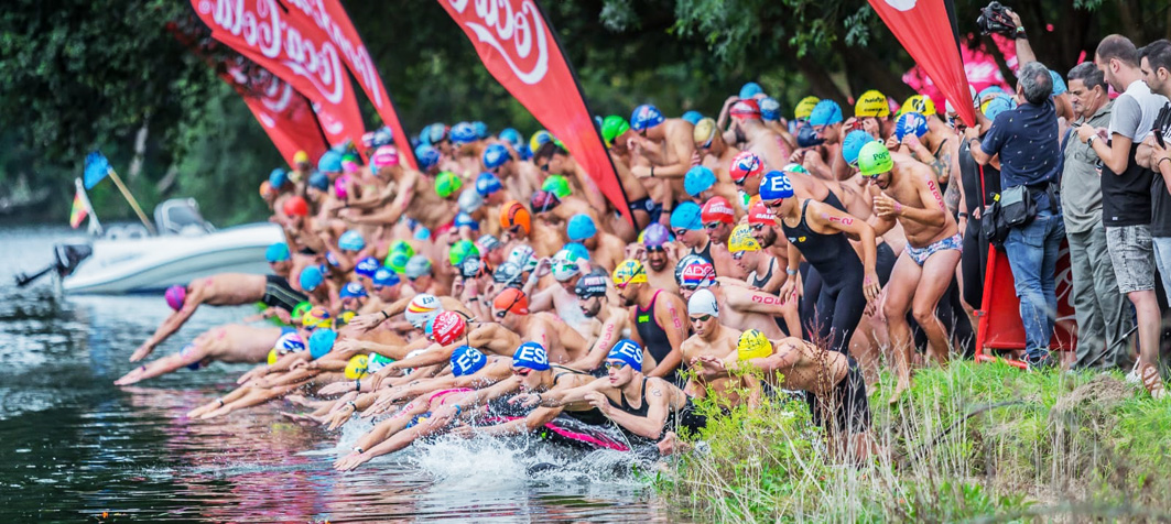
[[[835,466],[803,404],[774,404],[710,425],[710,453],[657,485],[712,522],[1171,516],[1171,401],[1122,374],[956,363],[891,407],[892,384],[871,395],[885,453],[861,468]]]

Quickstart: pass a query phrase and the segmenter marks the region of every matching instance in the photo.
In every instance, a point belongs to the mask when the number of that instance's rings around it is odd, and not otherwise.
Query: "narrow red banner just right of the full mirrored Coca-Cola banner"
[[[395,111],[395,101],[391,99],[386,88],[383,87],[382,76],[370,60],[362,37],[350,22],[350,16],[338,0],[280,0],[288,7],[289,18],[308,18],[329,37],[334,46],[341,51],[342,60],[350,69],[350,74],[358,81],[358,85],[365,91],[367,97],[374,103],[374,109],[378,111],[382,122],[390,127],[395,135],[395,143],[398,147],[398,156],[406,160],[412,168],[418,168],[415,160],[415,151],[411,149],[411,140],[408,138],[403,123]],[[303,26],[302,25],[299,25]]]

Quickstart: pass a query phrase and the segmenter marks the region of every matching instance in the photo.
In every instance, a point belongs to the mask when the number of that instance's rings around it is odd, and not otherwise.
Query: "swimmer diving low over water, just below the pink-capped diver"
[[[263,361],[268,350],[273,349],[276,340],[288,332],[292,330],[287,328],[252,328],[239,324],[213,328],[196,337],[178,353],[135,367],[114,384],[125,386],[182,367],[198,370],[215,360],[225,363]]]

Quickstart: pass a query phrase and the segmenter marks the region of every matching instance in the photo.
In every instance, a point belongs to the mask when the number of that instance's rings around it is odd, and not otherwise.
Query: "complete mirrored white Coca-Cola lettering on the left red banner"
[[[199,0],[197,11],[205,21],[211,15],[213,30],[232,34],[252,50],[304,77],[329,103],[343,101],[345,74],[337,49],[330,42],[306,37],[282,20],[275,0]]]

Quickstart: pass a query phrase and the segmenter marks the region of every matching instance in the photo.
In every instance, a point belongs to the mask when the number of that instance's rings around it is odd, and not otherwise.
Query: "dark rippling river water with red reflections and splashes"
[[[50,261],[66,228],[0,228],[0,516],[6,522],[679,522],[616,451],[439,439],[338,474],[370,426],[290,423],[279,401],[213,421],[184,414],[247,365],[112,381],[169,312],[158,296],[69,296]],[[156,354],[251,308],[201,308]],[[529,475],[528,467],[557,468]]]

